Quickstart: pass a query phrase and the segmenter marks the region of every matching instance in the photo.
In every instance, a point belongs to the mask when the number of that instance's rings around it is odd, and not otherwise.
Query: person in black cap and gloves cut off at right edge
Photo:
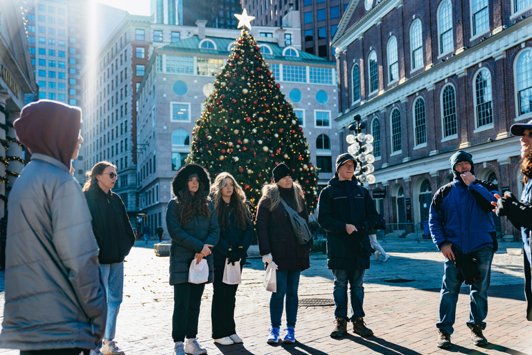
[[[508,220],[521,230],[524,250],[524,294],[526,295],[526,319],[532,320],[532,121],[515,123],[510,132],[521,136],[521,173],[525,184],[520,201],[506,192],[504,198],[498,198],[497,216],[507,216]]]

